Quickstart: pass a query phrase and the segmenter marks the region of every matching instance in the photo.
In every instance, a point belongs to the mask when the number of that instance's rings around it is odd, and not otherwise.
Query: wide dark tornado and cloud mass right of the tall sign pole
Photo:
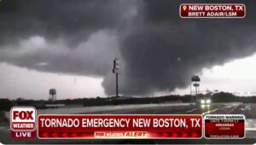
[[[143,20],[121,44],[125,61],[125,85],[121,92],[145,95],[184,88],[189,85],[190,77],[202,68],[253,55],[256,51],[253,10],[256,3],[246,3],[247,17],[235,20],[184,20],[179,18],[177,10],[181,3],[144,1]],[[108,86],[108,81],[103,84]]]

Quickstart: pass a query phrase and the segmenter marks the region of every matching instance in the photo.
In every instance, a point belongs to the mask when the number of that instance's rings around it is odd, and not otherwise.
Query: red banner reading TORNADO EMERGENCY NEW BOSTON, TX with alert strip
[[[38,138],[195,138],[201,115],[39,115]]]

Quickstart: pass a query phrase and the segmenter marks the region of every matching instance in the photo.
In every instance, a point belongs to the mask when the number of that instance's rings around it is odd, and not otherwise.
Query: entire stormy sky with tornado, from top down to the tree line
[[[0,97],[60,86],[65,97],[113,95],[115,57],[125,96],[187,88],[193,74],[256,52],[256,3],[224,1],[234,2],[246,4],[244,19],[181,19],[192,1],[180,0],[2,0]]]

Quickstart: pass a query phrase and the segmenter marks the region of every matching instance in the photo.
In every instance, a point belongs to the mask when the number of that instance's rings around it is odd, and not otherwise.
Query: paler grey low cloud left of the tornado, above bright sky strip
[[[92,34],[75,49],[67,47],[62,40],[49,42],[44,37],[34,36],[0,49],[0,60],[38,71],[98,77],[107,73],[111,67],[109,61],[116,55],[111,52],[117,49],[115,36],[108,32]]]

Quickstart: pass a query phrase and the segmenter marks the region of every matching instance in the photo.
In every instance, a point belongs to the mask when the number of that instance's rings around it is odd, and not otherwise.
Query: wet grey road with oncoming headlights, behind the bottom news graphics
[[[9,143],[24,143],[24,144],[35,144],[35,143],[103,143],[103,144],[113,144],[113,143],[145,143],[145,144],[165,144],[165,143],[229,143],[229,144],[253,144],[256,142],[256,104],[250,104],[251,110],[242,111],[243,106],[241,103],[216,103],[211,106],[202,107],[199,105],[192,104],[149,104],[149,105],[132,105],[132,106],[122,106],[122,107],[96,107],[93,109],[85,109],[86,111],[80,111],[79,113],[84,114],[207,114],[207,113],[215,113],[215,114],[244,114],[247,118],[247,136],[245,139],[240,140],[207,140],[207,139],[194,139],[194,140],[33,140],[33,141],[14,141],[9,137],[9,129],[0,128],[0,142],[4,144]],[[72,108],[70,108],[72,109]],[[80,109],[81,110],[81,109]],[[54,113],[54,111],[52,111]]]

